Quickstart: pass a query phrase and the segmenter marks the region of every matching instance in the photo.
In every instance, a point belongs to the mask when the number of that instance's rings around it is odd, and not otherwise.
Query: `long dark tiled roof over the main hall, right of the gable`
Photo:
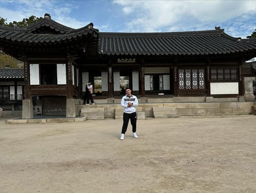
[[[216,55],[256,50],[256,38],[241,39],[223,29],[169,33],[99,33],[106,55]]]

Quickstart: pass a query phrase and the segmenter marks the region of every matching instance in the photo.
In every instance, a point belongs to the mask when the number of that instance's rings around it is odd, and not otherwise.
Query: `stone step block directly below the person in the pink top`
[[[85,108],[81,109],[80,116],[88,120],[102,120],[105,118],[105,112],[104,108]]]

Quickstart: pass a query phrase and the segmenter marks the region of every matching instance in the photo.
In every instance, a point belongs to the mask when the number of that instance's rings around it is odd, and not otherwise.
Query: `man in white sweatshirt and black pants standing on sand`
[[[124,139],[124,134],[127,130],[129,119],[131,120],[131,124],[133,127],[133,137],[138,138],[136,134],[136,121],[137,121],[136,106],[139,105],[139,102],[137,97],[132,95],[131,89],[125,89],[125,93],[126,95],[124,95],[121,100],[121,106],[123,107],[123,126],[122,126],[120,140]]]

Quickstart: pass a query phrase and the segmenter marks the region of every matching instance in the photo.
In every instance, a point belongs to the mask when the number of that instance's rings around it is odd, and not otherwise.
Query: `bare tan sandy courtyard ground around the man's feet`
[[[0,192],[256,192],[256,116],[5,124]]]

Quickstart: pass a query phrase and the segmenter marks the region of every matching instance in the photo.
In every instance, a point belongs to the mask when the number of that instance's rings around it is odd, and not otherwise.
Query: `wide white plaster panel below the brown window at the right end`
[[[238,82],[211,82],[210,94],[239,94]]]

